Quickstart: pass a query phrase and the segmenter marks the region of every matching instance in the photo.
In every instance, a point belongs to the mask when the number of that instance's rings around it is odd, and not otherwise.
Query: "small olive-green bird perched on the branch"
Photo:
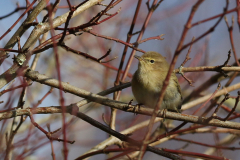
[[[146,52],[141,57],[135,56],[135,58],[139,60],[139,63],[132,79],[133,95],[139,104],[155,108],[163,81],[169,70],[169,64],[161,54],[153,51]],[[180,113],[181,105],[181,88],[176,75],[172,73],[160,109]]]

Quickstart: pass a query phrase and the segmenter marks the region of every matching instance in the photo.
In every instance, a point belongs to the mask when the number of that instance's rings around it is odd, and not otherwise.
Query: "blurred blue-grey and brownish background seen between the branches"
[[[32,1],[29,1],[30,3]],[[50,0],[50,3],[54,3],[55,1]],[[82,1],[72,0],[70,1],[72,5],[78,5]],[[136,20],[134,33],[140,31],[142,25],[146,19],[148,14],[148,9],[146,5],[147,0],[142,1],[142,5],[140,7],[140,12]],[[152,4],[152,1],[149,1]],[[161,34],[165,34],[163,36],[164,40],[149,40],[144,43],[141,43],[138,48],[144,51],[157,51],[166,57],[167,61],[170,63],[174,52],[179,43],[182,31],[184,29],[184,25],[187,22],[189,14],[193,5],[197,2],[197,0],[165,0],[163,1],[159,7],[154,11],[148,26],[144,32],[143,38],[149,38]],[[103,4],[109,4],[110,0],[105,0],[102,2]],[[135,13],[135,9],[137,6],[137,0],[131,1],[121,1],[114,8],[112,8],[108,13],[115,13],[120,8],[120,12],[112,17],[111,19],[93,26],[92,31],[97,32],[101,35],[105,35],[108,37],[113,37],[120,39],[122,41],[126,41],[127,34],[130,29],[132,18]],[[237,7],[237,0],[229,0],[228,10],[234,9]],[[16,8],[26,7],[25,0],[9,0],[9,1],[0,1],[0,17],[3,17]],[[35,6],[35,5],[34,5]],[[192,24],[199,22],[201,20],[208,19],[210,17],[216,16],[218,14],[223,13],[223,9],[226,6],[225,0],[206,0],[204,1],[198,8],[195,13]],[[92,17],[94,17],[98,12],[103,10],[104,6],[94,6],[82,14],[72,18],[70,20],[69,27],[76,27],[83,23],[87,23]],[[25,11],[25,9],[19,10],[8,16],[6,18],[1,18],[0,20],[0,35],[3,35],[8,28],[10,28],[13,23],[19,18],[19,16]],[[56,12],[55,17],[61,16],[62,14],[69,11],[68,5],[66,1],[61,1],[59,4],[59,9]],[[46,15],[47,11],[43,10],[39,16],[37,17],[38,21],[41,22],[43,17]],[[17,28],[21,25],[21,23],[25,20],[27,14],[20,20],[19,23],[12,29],[12,31],[7,34],[0,41],[0,48],[4,48],[7,41],[11,38]],[[240,50],[240,36],[239,36],[239,24],[237,22],[237,12],[231,12],[226,14],[228,19],[228,23],[232,25],[232,17],[235,20],[233,24],[233,40],[235,44],[235,49],[237,56],[239,57]],[[105,16],[106,18],[106,16]],[[187,33],[187,37],[184,41],[184,44],[191,42],[191,39],[194,37],[199,37],[206,31],[208,31],[217,21],[218,18],[212,19],[210,21],[197,24],[193,26],[189,32]],[[60,26],[64,27],[64,25]],[[24,45],[27,38],[31,34],[31,31],[34,27],[30,27],[24,35],[20,39],[21,46]],[[62,31],[55,30],[55,34],[59,34]],[[48,38],[50,38],[50,34]],[[134,35],[131,39],[131,43],[136,42],[138,35]],[[47,38],[47,39],[48,39]],[[108,62],[111,66],[115,68],[119,67],[120,60],[123,54],[124,45],[121,43],[117,43],[112,40],[107,40],[104,38],[93,36],[89,33],[84,32],[81,36],[68,36],[65,38],[65,44],[75,50],[88,53],[89,55],[100,58],[105,55],[106,52],[111,49],[111,53],[104,60],[110,60],[114,57],[116,59]],[[35,44],[37,47],[39,43]],[[189,47],[188,47],[189,48]],[[181,63],[184,61],[185,56],[187,54],[188,48],[183,50],[177,60],[175,68],[180,67]],[[17,45],[13,49],[17,50]],[[222,65],[227,60],[228,51],[232,49],[228,27],[224,19],[221,20],[219,25],[215,28],[213,32],[206,35],[204,38],[194,43],[192,46],[192,51],[189,55],[191,58],[184,67],[196,67],[196,66],[217,66]],[[130,56],[132,49],[129,48],[126,60],[123,66],[123,69],[126,67],[126,62]],[[78,88],[97,93],[103,91],[107,88],[111,88],[114,86],[114,82],[116,80],[117,71],[111,68],[105,67],[100,63],[96,63],[92,60],[86,59],[83,56],[73,54],[71,52],[67,52],[66,50],[58,47],[58,54],[60,58],[60,71],[61,78],[63,82],[68,82],[71,85],[74,85]],[[142,55],[141,52],[136,52],[137,55]],[[4,63],[1,65],[1,74],[4,73],[11,65],[13,64],[13,56],[17,55],[16,53],[11,52],[10,57],[7,58]],[[34,56],[31,57],[30,64],[33,60]],[[232,65],[235,62],[234,56],[232,57],[228,64]],[[137,69],[137,60],[134,59],[132,65],[130,66],[130,75],[124,80],[124,82],[131,81],[131,74],[135,72]],[[42,53],[40,53],[40,58],[36,66],[36,71],[39,71],[41,74],[45,74],[48,77],[57,79],[57,71],[56,71],[56,61],[54,57],[53,49],[48,49]],[[194,90],[201,86],[205,81],[207,81],[212,76],[219,74],[217,72],[189,72],[185,73],[189,79],[193,80],[193,87],[188,84],[188,82],[178,75],[179,83],[182,88],[183,98],[188,97],[193,94]],[[11,83],[11,87],[18,86],[22,83],[22,77],[16,78],[13,83]],[[221,80],[222,86],[228,81],[229,78],[225,78]],[[236,84],[239,82],[239,77],[236,77],[232,84]],[[199,96],[203,96],[209,93],[213,93],[217,88],[218,82],[213,83],[213,85],[206,86],[203,89],[203,92],[196,93],[193,99],[196,99]],[[39,84],[37,82],[33,82],[31,86],[28,87],[25,97],[24,107],[33,107],[38,103],[38,101],[50,90],[51,87]],[[3,88],[4,89],[4,88]],[[0,104],[0,110],[4,110],[7,108],[13,108],[17,106],[19,95],[22,89],[15,89],[11,92],[7,92],[0,97],[0,101],[4,101],[4,103]],[[230,93],[232,96],[237,96],[237,91],[233,91]],[[72,103],[76,103],[82,100],[81,97],[77,97],[75,95],[64,93],[65,105],[69,105]],[[113,94],[108,95],[109,98],[113,98]],[[131,92],[131,88],[126,88],[122,90],[120,101],[129,102],[131,99],[134,99],[133,94]],[[53,92],[44,99],[44,101],[38,107],[50,107],[50,106],[59,106],[60,105],[60,96],[59,90],[53,89]],[[187,100],[187,102],[191,101],[191,97]],[[228,107],[233,107],[235,100],[230,99],[226,101],[225,105]],[[136,104],[136,101],[133,102]],[[194,112],[197,107],[191,108],[189,110],[184,111],[184,114],[191,114]],[[82,107],[82,111],[94,118],[95,120],[104,123],[102,119],[102,114],[106,121],[110,119],[110,107],[102,106],[96,103],[90,103]],[[203,112],[203,111],[202,111]],[[202,113],[201,112],[201,113]],[[198,115],[200,115],[199,113]],[[212,112],[211,112],[212,113]],[[226,115],[224,111],[220,111],[219,116]],[[62,116],[61,114],[49,114],[49,115],[34,115],[35,121],[44,129],[47,130],[47,124],[50,124],[51,131],[61,128],[62,126]],[[116,118],[116,130],[122,131],[127,129],[135,124],[138,124],[144,120],[149,119],[149,116],[144,115],[134,115],[132,113],[126,113],[124,111],[117,112]],[[239,119],[235,119],[234,121],[239,122]],[[86,151],[104,141],[109,137],[107,133],[99,130],[91,126],[90,124],[75,118],[71,115],[66,115],[67,122],[67,139],[74,140],[74,144],[67,144],[69,149],[69,159],[77,158],[78,156],[84,154]],[[177,126],[181,122],[173,121],[171,124],[173,126]],[[185,127],[189,127],[191,124],[186,125]],[[0,121],[0,154],[4,155],[5,150],[5,135],[9,132],[9,129],[12,126],[12,119],[4,119]],[[136,140],[141,140],[145,135],[146,128],[135,131],[131,137]],[[57,132],[53,136],[62,138],[62,132]],[[185,134],[182,135],[181,138],[195,140],[202,143],[208,143],[212,145],[216,145],[218,142],[224,140],[224,138],[229,138],[232,136],[228,133],[203,133],[203,134]],[[231,138],[231,137],[230,137]],[[235,136],[235,139],[232,141],[228,141],[227,145],[239,147],[238,137]],[[56,154],[56,159],[63,159],[63,145],[62,142],[53,141],[53,146]],[[165,143],[158,145],[160,148],[168,148],[168,149],[183,149],[189,152],[199,152],[206,153],[211,152],[212,148],[208,148],[201,145],[195,145],[187,142],[181,142],[176,140],[169,140]],[[229,159],[238,159],[240,156],[238,151],[232,150],[214,150],[214,155],[220,157],[227,157]],[[90,159],[107,159],[107,155],[96,155]],[[159,155],[155,155],[153,153],[147,152],[144,156],[144,159],[159,159]],[[163,158],[163,157],[161,157]],[[184,157],[186,159],[193,159],[189,157]],[[19,129],[17,135],[13,141],[13,152],[12,159],[52,159],[51,157],[51,145],[49,139],[35,128],[29,118],[23,123],[21,128]],[[166,159],[166,158],[165,158]]]

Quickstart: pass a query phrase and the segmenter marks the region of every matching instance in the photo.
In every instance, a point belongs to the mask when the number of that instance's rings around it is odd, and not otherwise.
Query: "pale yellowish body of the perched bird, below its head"
[[[138,103],[154,108],[166,75],[167,72],[161,72],[159,76],[159,71],[157,73],[151,71],[151,73],[145,72],[140,74],[139,71],[136,71],[132,79],[132,91]],[[181,93],[178,92],[176,87],[176,81],[174,80],[177,80],[176,76],[172,76],[174,77],[169,81],[160,109],[168,108],[176,111],[178,106],[181,105]]]

